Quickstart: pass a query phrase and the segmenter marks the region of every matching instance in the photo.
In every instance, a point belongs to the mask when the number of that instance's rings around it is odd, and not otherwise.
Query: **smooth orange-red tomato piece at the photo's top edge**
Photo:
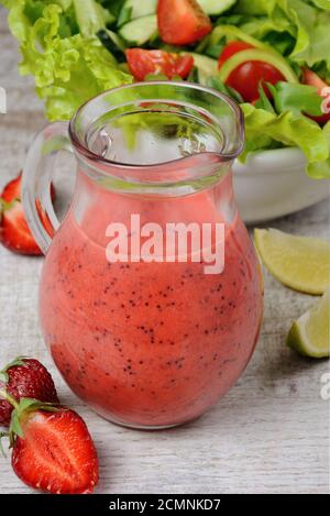
[[[196,0],[158,0],[157,21],[161,39],[172,45],[189,45],[212,30]]]

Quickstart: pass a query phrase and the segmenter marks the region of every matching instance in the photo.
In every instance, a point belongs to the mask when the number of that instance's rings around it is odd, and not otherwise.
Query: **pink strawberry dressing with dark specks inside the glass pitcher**
[[[101,196],[101,198],[100,198]],[[201,263],[108,263],[110,221],[221,220],[208,190],[167,200],[96,194],[74,202],[43,267],[45,341],[70,388],[106,418],[165,427],[200,416],[248,364],[263,310],[257,259],[235,216],[222,274]]]

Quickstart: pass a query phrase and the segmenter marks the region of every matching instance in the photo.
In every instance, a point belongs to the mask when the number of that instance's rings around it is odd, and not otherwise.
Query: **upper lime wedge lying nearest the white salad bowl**
[[[254,241],[268,271],[284,285],[323,294],[330,285],[330,243],[276,229],[256,229]]]

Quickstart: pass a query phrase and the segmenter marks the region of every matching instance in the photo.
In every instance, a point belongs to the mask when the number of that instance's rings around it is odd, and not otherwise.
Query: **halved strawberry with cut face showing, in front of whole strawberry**
[[[13,413],[19,427],[11,429],[15,474],[31,487],[53,494],[91,493],[99,479],[98,458],[80,416],[35,400],[23,399],[23,404]]]

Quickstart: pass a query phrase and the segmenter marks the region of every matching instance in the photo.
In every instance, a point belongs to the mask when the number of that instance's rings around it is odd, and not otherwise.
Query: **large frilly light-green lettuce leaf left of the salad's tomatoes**
[[[95,12],[95,28],[107,22],[108,15],[102,20],[102,11]],[[23,56],[20,72],[34,76],[50,120],[69,119],[89,98],[132,81],[99,39],[87,35],[90,20],[86,18],[85,24],[82,17],[76,19],[75,1],[13,2],[9,25]]]

